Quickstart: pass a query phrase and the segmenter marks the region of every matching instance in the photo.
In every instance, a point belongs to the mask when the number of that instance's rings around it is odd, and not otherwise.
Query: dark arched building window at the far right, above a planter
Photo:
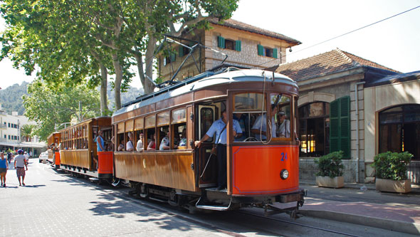
[[[379,112],[379,153],[410,152],[420,160],[420,105],[399,105]]]

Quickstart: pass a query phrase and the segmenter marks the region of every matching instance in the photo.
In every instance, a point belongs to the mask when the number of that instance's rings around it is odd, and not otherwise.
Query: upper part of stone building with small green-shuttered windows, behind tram
[[[185,46],[201,43],[208,48],[196,48],[174,80],[183,80],[203,73],[222,62],[243,68],[261,69],[278,65],[285,62],[287,48],[300,44],[299,41],[280,33],[233,19],[219,22],[212,18],[209,22],[209,30],[186,31],[176,39]],[[187,58],[189,49],[172,43],[164,46],[163,52],[158,56],[158,75],[162,80],[169,80]]]

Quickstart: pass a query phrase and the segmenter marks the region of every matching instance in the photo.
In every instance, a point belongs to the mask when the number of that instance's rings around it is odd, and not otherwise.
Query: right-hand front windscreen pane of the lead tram
[[[284,98],[288,98],[288,101],[284,101]],[[277,107],[277,113],[275,114],[274,117],[274,121],[275,121],[275,137],[273,137],[273,141],[291,141],[293,138],[293,131],[294,131],[294,126],[292,124],[293,122],[293,100],[292,100],[293,96],[292,95],[288,95],[286,93],[270,93],[270,100],[271,100],[271,105],[275,105],[275,107]],[[282,101],[283,100],[283,101]],[[284,108],[284,109],[282,109]],[[290,130],[290,134],[289,137],[280,137],[280,134],[278,134],[278,130],[279,130],[279,125],[278,122],[280,122],[280,112],[285,112],[286,115],[286,120],[289,121],[289,130]],[[270,112],[270,114],[272,114],[272,110]],[[272,117],[272,115],[270,115]]]

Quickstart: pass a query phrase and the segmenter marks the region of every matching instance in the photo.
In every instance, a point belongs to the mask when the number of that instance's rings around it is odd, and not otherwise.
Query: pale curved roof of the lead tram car
[[[242,82],[263,82],[273,80],[275,83],[283,83],[286,85],[292,85],[293,87],[298,87],[298,84],[288,78],[287,76],[280,73],[273,73],[267,70],[258,70],[258,69],[242,69],[242,70],[228,70],[227,72],[214,73],[214,72],[205,72],[199,75],[196,75],[192,78],[182,80],[179,83],[168,86],[167,88],[162,88],[155,93],[144,95],[132,102],[128,102],[120,110],[114,112],[112,116],[120,115],[125,112],[136,110],[140,107],[151,105],[155,102],[162,100],[167,100],[169,98],[174,98],[179,95],[190,93],[196,90],[202,90],[204,88],[209,88],[215,85],[223,85],[230,83],[242,83]],[[265,76],[265,78],[264,78]]]

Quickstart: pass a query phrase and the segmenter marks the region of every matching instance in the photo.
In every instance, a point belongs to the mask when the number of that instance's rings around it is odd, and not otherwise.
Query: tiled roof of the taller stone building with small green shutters
[[[209,17],[207,19],[207,21],[209,21],[210,23],[214,23],[216,25],[220,25],[220,26],[236,28],[236,29],[242,30],[242,31],[248,31],[248,32],[252,32],[252,33],[258,33],[258,34],[261,34],[263,36],[278,38],[280,40],[287,41],[288,43],[292,43],[295,46],[297,46],[301,43],[300,41],[297,41],[294,38],[290,38],[288,36],[282,35],[281,33],[275,33],[273,31],[268,31],[268,30],[265,30],[263,28],[258,28],[256,26],[251,26],[251,25],[248,25],[247,23],[243,23],[241,21],[236,21],[236,20],[233,20],[233,19],[227,19],[227,20],[224,20],[224,21],[219,21],[219,19],[217,19],[217,18]]]

